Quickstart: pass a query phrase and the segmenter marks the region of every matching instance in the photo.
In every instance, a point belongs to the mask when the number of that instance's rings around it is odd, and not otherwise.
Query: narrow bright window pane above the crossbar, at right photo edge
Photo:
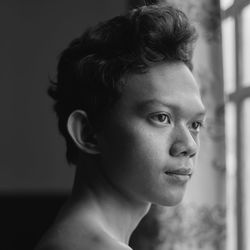
[[[242,55],[244,86],[250,85],[250,5],[242,11]]]

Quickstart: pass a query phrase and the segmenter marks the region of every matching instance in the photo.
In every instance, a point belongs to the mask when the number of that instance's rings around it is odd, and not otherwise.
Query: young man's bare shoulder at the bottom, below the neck
[[[107,233],[89,207],[62,210],[35,250],[132,250]]]

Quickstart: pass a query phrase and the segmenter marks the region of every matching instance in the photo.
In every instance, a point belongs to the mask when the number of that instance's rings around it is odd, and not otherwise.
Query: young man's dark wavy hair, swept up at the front
[[[192,70],[196,37],[183,12],[150,5],[99,23],[73,40],[62,52],[57,80],[48,90],[66,139],[68,162],[76,163],[78,155],[67,131],[72,111],[83,109],[98,127],[98,117],[119,98],[126,74],[144,73],[157,62],[181,61]]]

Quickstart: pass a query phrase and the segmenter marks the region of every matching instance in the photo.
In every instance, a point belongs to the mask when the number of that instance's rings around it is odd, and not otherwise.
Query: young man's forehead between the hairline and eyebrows
[[[119,103],[123,108],[166,104],[204,112],[198,84],[184,63],[157,64],[147,73],[129,75]]]

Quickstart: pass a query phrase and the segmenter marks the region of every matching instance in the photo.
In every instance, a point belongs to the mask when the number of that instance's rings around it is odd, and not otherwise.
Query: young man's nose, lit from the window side
[[[198,141],[194,139],[189,129],[182,127],[176,131],[175,140],[170,147],[170,155],[192,158],[196,155],[198,147]]]

